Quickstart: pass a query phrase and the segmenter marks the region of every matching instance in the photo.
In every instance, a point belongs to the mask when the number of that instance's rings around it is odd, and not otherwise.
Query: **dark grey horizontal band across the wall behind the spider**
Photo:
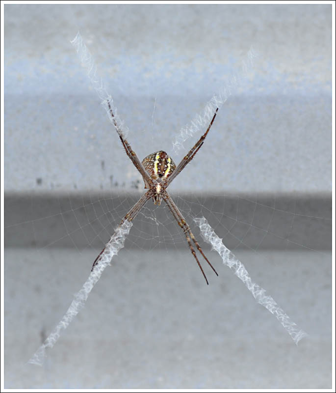
[[[140,194],[5,193],[5,247],[101,249]],[[172,194],[196,238],[204,216],[229,249],[331,250],[331,194]],[[150,200],[126,247],[185,248],[181,228]],[[203,242],[202,242],[203,244]],[[206,246],[204,246],[206,247]]]

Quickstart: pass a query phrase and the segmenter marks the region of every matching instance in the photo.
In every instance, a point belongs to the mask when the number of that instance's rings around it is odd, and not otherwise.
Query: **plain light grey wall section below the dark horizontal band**
[[[123,249],[43,368],[26,364],[95,252],[5,251],[5,388],[331,388],[331,255],[238,251],[310,336],[296,346],[219,256],[207,286],[187,251]]]

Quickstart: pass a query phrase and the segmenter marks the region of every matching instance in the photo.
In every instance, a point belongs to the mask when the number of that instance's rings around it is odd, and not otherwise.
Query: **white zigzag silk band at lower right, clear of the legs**
[[[261,288],[258,284],[251,280],[249,273],[247,272],[245,266],[234,256],[234,254],[227,248],[222,242],[215,231],[207,223],[207,220],[202,218],[194,218],[195,223],[200,227],[201,235],[204,240],[209,243],[213,250],[217,251],[223,263],[230,267],[234,271],[234,274],[244,282],[248,290],[252,293],[253,297],[257,300],[261,306],[268,309],[279,322],[283,325],[285,330],[288,332],[290,337],[294,340],[297,345],[298,342],[307,336],[303,330],[299,329],[296,323],[291,321],[288,315],[281,309],[271,296],[266,295],[265,289]]]

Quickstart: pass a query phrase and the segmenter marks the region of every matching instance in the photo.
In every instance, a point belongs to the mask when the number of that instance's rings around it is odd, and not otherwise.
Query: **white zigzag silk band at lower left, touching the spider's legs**
[[[70,322],[78,314],[79,310],[84,307],[84,304],[92,288],[101,278],[104,269],[106,266],[110,265],[113,256],[124,247],[125,239],[129,234],[131,226],[132,224],[125,220],[125,222],[116,229],[115,233],[111,236],[111,239],[106,244],[105,250],[100,257],[99,262],[91,272],[89,278],[85,281],[80,291],[75,294],[74,300],[72,301],[69,309],[64,314],[63,318],[58,322],[57,326],[53,329],[49,337],[29,359],[28,363],[43,365],[46,358],[46,350],[48,348],[52,348],[55,345],[58,338],[60,337],[61,330],[65,330],[69,326]]]

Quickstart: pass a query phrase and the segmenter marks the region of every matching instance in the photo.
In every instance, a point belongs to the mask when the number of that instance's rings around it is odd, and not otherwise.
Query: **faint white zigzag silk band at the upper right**
[[[234,73],[230,77],[229,81],[212,96],[201,114],[197,114],[186,126],[181,128],[173,141],[173,148],[175,152],[178,152],[180,149],[184,149],[183,143],[187,139],[197,132],[207,128],[213,114],[216,112],[216,109],[220,109],[226,100],[242,85],[248,73],[253,68],[253,61],[255,57],[256,53],[251,47],[247,53],[246,59],[243,61],[241,71]]]

